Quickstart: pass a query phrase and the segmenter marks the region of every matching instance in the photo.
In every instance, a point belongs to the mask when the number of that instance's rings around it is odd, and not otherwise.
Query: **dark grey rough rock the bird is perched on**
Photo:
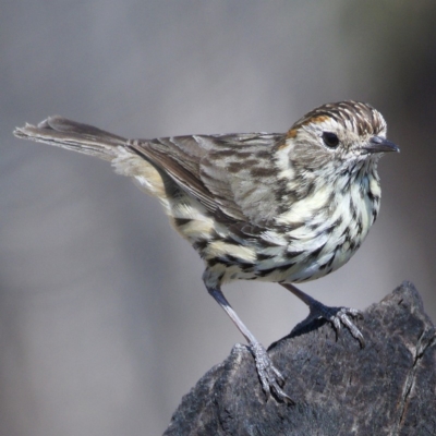
[[[266,401],[249,349],[237,344],[183,398],[165,435],[436,435],[435,327],[413,284],[356,325],[364,349],[323,322],[270,347],[295,405]]]

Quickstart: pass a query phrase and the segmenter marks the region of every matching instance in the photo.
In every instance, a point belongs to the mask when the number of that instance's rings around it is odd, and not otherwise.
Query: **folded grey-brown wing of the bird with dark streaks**
[[[194,135],[135,140],[129,148],[208,210],[263,226],[279,207],[272,147],[281,141],[281,134]]]

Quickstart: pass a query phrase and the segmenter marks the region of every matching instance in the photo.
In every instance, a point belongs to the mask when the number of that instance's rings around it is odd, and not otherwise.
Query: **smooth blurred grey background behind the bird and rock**
[[[0,434],[161,434],[243,341],[157,201],[107,162],[12,136],[49,114],[156,137],[283,132],[324,102],[371,102],[401,147],[380,161],[379,218],[301,289],[365,308],[408,279],[436,319],[435,20],[434,1],[2,4]],[[277,284],[225,293],[265,346],[307,314]]]

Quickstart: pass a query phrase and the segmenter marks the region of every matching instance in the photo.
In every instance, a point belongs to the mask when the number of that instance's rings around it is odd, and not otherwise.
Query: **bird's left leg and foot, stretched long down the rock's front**
[[[272,365],[271,359],[269,358],[265,347],[253,336],[245,324],[242,323],[241,318],[233,311],[219,288],[207,288],[207,290],[218,302],[218,304],[226,311],[231,320],[247,340],[250,350],[256,362],[257,374],[259,376],[262,387],[267,398],[269,398],[270,392],[274,392],[279,400],[293,404],[292,399],[280,387],[283,385],[284,378]]]

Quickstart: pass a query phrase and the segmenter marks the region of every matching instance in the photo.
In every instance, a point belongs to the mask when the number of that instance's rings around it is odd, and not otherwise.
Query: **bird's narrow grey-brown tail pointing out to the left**
[[[49,117],[38,125],[26,124],[14,130],[16,137],[66,148],[100,159],[112,160],[119,155],[118,146],[125,145],[124,137],[68,120],[59,116]]]

